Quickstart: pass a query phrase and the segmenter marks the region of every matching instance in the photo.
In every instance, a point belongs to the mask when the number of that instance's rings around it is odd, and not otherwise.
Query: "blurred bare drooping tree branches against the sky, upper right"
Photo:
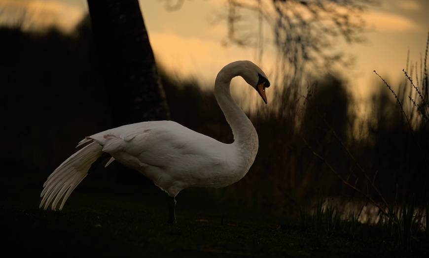
[[[305,66],[322,69],[342,62],[343,53],[333,48],[338,38],[341,37],[348,43],[362,41],[361,33],[365,28],[365,22],[361,13],[366,10],[368,4],[377,2],[377,0],[228,0],[228,8],[232,10],[228,18],[228,38],[231,42],[243,46],[257,45],[251,40],[254,37],[243,37],[243,32],[236,28],[238,24],[243,23],[243,17],[239,16],[239,13],[259,14],[264,19],[264,25],[258,26],[268,25],[271,29],[274,37],[272,43],[281,59],[279,64],[286,62],[282,67],[288,67],[289,72],[280,69],[285,76],[281,79],[285,80],[290,75],[299,77],[305,71]],[[258,30],[255,26],[246,29]],[[256,32],[254,34],[257,35]],[[327,49],[330,51],[326,51]]]

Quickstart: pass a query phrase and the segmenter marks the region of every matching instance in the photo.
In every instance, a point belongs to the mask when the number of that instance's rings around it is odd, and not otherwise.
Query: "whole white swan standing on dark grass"
[[[108,129],[81,140],[84,146],[58,166],[43,184],[39,208],[63,209],[76,186],[107,159],[141,172],[168,194],[168,223],[176,224],[176,195],[189,187],[222,188],[242,179],[258,151],[258,135],[230,93],[241,76],[267,104],[265,73],[250,61],[225,65],[217,74],[214,96],[232,129],[234,141],[219,142],[174,121],[149,121]],[[58,207],[59,206],[59,207]]]

